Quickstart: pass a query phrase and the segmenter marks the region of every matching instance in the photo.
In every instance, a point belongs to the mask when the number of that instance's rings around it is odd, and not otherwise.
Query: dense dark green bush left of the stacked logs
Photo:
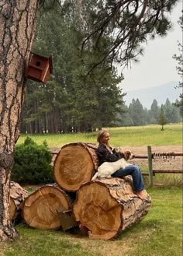
[[[54,182],[52,177],[51,153],[47,142],[37,145],[29,137],[14,149],[15,163],[12,169],[12,181],[23,184],[45,184]]]

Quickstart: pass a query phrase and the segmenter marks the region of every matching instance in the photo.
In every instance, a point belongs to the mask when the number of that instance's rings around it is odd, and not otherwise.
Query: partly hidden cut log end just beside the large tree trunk
[[[14,220],[20,216],[22,204],[29,195],[18,183],[10,182],[10,219]]]

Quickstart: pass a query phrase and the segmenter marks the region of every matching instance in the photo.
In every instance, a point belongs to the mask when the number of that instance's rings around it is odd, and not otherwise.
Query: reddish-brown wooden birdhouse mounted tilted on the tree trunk
[[[26,67],[26,77],[28,79],[46,84],[52,72],[52,56],[46,58],[38,54],[31,54],[29,65]]]

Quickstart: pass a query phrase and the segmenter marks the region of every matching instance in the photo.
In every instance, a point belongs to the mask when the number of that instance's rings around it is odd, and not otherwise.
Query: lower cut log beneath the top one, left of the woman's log
[[[47,184],[29,195],[22,206],[22,218],[29,226],[40,230],[60,228],[58,211],[71,209],[73,199],[57,184]]]

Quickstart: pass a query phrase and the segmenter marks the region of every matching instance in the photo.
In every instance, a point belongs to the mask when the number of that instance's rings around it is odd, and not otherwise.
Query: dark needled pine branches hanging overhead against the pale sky
[[[111,44],[103,51],[90,71],[103,61],[116,61],[129,65],[143,54],[142,43],[156,36],[165,36],[171,28],[168,13],[178,1],[88,1],[83,0],[81,16],[92,24],[90,30],[83,28],[82,49],[102,49],[100,38],[109,37]],[[85,11],[91,7],[91,12]]]

